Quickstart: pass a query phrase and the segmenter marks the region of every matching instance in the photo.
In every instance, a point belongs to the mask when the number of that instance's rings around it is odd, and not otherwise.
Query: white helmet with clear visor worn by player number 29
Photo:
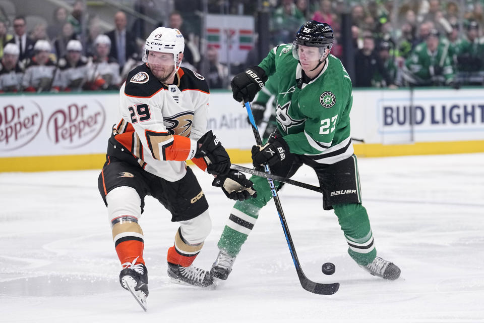
[[[179,57],[185,49],[185,38],[178,29],[158,27],[146,38],[145,48],[143,50],[143,62],[160,64],[160,62],[150,61],[149,52],[158,51],[171,53],[173,55],[173,65],[178,71],[180,67]],[[168,65],[165,62],[161,63]]]

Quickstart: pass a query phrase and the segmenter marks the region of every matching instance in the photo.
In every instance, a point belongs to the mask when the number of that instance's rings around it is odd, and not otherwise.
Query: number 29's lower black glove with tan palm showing
[[[240,172],[230,170],[226,175],[217,175],[212,182],[213,186],[221,187],[225,196],[232,200],[243,201],[249,197],[257,197],[251,180]]]

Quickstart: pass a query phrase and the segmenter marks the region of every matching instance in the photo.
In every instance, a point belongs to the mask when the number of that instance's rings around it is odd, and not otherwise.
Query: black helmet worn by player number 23
[[[325,22],[311,20],[305,22],[296,33],[294,43],[310,47],[324,47],[331,50],[333,46],[333,28]]]

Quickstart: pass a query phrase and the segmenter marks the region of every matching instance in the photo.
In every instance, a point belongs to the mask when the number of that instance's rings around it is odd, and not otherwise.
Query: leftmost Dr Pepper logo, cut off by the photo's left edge
[[[0,151],[18,149],[37,136],[43,122],[35,102],[0,107]]]

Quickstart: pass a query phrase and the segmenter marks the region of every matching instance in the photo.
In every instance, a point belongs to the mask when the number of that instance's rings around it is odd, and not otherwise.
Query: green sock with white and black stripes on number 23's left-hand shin
[[[247,201],[237,201],[230,211],[218,248],[235,257],[256,224],[259,210],[259,207]]]

